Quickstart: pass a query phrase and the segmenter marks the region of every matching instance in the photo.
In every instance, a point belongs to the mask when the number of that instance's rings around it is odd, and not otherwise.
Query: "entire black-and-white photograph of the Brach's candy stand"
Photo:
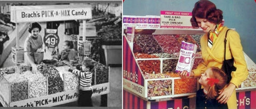
[[[122,1],[1,1],[0,107],[122,108]]]

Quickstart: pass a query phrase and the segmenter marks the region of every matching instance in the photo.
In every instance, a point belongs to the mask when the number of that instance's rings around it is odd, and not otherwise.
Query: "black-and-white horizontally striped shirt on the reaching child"
[[[92,90],[92,72],[81,72],[80,70],[74,69],[72,73],[79,76],[79,89]]]

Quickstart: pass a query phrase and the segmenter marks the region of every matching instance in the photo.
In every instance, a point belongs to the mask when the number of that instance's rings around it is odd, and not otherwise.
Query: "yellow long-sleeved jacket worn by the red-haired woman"
[[[200,63],[197,68],[193,70],[195,77],[200,77],[201,73],[204,73],[204,71],[211,66],[221,69],[224,60],[224,39],[227,30],[227,27],[221,30],[218,38],[213,42],[212,48],[209,48],[207,45],[208,36],[206,34],[201,38],[200,43],[204,62]],[[229,30],[227,34],[226,60],[232,57],[234,58],[236,71],[231,72],[232,79],[230,82],[234,83],[236,88],[238,88],[247,78],[248,70],[239,34],[234,30]]]

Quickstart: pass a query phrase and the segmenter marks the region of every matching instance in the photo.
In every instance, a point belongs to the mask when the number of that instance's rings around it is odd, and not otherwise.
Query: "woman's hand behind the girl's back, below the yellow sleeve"
[[[233,83],[229,83],[228,87],[224,88],[220,91],[219,97],[216,99],[220,104],[226,104],[228,99],[232,95],[233,91],[235,90],[236,86]]]

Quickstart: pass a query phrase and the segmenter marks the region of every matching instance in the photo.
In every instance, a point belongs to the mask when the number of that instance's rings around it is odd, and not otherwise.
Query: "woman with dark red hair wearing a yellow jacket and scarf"
[[[202,28],[205,32],[205,35],[200,40],[204,62],[192,70],[189,77],[199,77],[201,73],[211,66],[221,69],[224,53],[226,52],[226,60],[234,58],[233,65],[236,70],[231,72],[231,76],[228,75],[228,77],[231,77],[228,79],[228,85],[220,91],[217,100],[221,104],[227,103],[228,108],[237,108],[235,88],[238,88],[247,78],[248,70],[239,34],[235,30],[228,31],[228,28],[222,24],[222,18],[222,11],[217,9],[212,2],[201,0],[195,3],[190,22],[194,28]],[[227,44],[225,51],[224,40],[226,39],[226,33]],[[187,73],[187,71],[182,71],[180,77],[188,78]]]

